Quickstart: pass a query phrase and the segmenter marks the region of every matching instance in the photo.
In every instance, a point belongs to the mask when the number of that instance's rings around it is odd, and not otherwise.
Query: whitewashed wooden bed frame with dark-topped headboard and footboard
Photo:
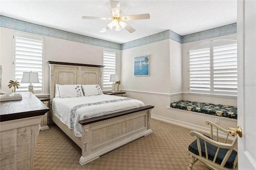
[[[81,128],[79,130],[80,134],[75,133],[76,130],[70,128],[70,125],[63,123],[63,120],[58,115],[61,111],[58,111],[58,113],[56,111],[56,102],[60,100],[57,100],[55,97],[57,94],[56,89],[59,89],[58,85],[60,87],[62,87],[61,85],[88,85],[86,87],[99,85],[102,87],[102,71],[104,66],[56,61],[48,61],[48,64],[50,65],[50,119],[82,149],[82,155],[79,160],[81,165],[95,160],[99,156],[124,144],[152,133],[150,129],[150,111],[154,106],[144,106],[144,104],[128,110],[127,108],[123,108],[124,105],[122,107],[114,106],[117,110],[114,112],[110,111],[107,115],[88,117],[88,119],[75,119],[74,122],[76,125],[74,126],[79,125]],[[108,99],[112,95],[98,96],[103,100],[103,98]],[[92,99],[89,99],[89,97],[92,97]],[[112,97],[114,98],[110,100],[122,102],[125,100],[132,101],[124,97]],[[77,98],[89,99],[91,102],[94,101],[93,96]],[[68,99],[65,102],[69,103]],[[59,103],[65,102],[59,101]],[[52,104],[54,104],[54,107],[52,107]],[[83,105],[81,103],[79,104]]]

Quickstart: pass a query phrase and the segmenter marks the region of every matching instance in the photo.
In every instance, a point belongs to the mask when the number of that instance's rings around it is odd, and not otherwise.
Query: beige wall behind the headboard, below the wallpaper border
[[[12,90],[8,89],[9,80],[14,79],[13,72],[13,50],[14,50],[14,32],[23,34],[30,34],[27,32],[12,30],[9,28],[0,27],[0,64],[3,68],[2,74],[2,91],[11,93]],[[38,34],[30,34],[40,36]],[[96,45],[88,45],[85,43],[78,43],[58,38],[41,36],[44,38],[44,94],[50,93],[49,87],[49,74],[50,69],[47,61],[60,61],[70,63],[84,63],[93,65],[103,65],[103,49]],[[114,49],[111,49],[114,50]],[[114,50],[117,53],[117,74],[120,74],[121,52]]]

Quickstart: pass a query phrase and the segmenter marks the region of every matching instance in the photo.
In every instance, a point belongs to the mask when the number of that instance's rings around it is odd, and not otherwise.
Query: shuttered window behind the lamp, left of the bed
[[[43,94],[44,38],[14,33],[14,79],[21,81],[23,71],[37,72],[40,83],[34,85],[34,94]],[[28,91],[30,83],[19,83],[16,91]]]

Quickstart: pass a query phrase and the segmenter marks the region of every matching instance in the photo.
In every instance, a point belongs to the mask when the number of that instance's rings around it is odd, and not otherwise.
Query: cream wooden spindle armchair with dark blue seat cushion
[[[238,169],[238,154],[233,150],[237,143],[238,135],[236,135],[236,132],[225,130],[210,121],[206,121],[205,123],[206,125],[210,125],[210,136],[202,135],[194,130],[190,132],[191,136],[196,136],[196,140],[186,150],[188,155],[192,155],[188,170],[192,170],[194,163],[198,160],[212,170]],[[216,128],[216,140],[213,138],[213,127]],[[219,131],[227,134],[224,143],[218,142]],[[232,144],[226,144],[229,135],[235,136]]]

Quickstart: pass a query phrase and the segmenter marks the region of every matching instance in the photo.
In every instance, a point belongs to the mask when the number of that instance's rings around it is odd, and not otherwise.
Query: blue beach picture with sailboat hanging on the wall
[[[149,55],[134,57],[134,75],[149,75]]]

